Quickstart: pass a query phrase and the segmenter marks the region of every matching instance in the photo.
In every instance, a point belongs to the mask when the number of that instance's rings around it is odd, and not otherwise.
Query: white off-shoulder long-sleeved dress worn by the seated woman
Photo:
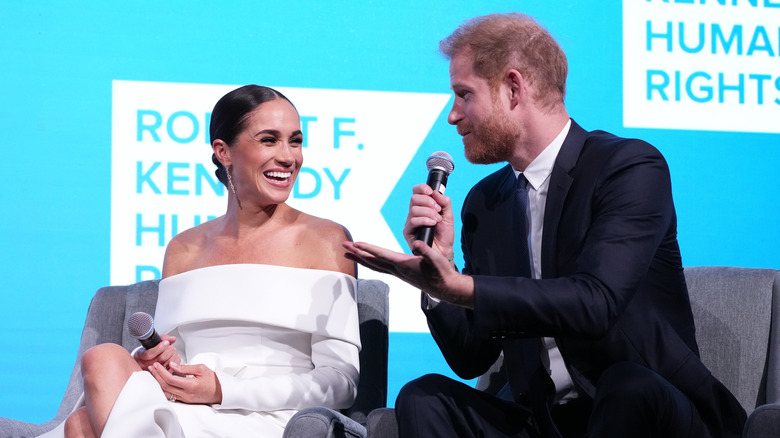
[[[281,437],[310,406],[349,407],[359,373],[355,278],[221,265],[160,282],[155,328],[186,364],[214,370],[219,405],[169,402],[146,371],[125,384],[103,437]]]

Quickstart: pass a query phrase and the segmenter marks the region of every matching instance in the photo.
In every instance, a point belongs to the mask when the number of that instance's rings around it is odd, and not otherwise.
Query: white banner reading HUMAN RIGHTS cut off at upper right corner
[[[624,125],[780,133],[778,23],[774,0],[624,0]]]

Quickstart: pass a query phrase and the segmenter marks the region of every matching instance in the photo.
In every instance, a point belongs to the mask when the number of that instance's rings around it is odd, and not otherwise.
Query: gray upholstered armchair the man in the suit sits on
[[[685,268],[701,358],[750,415],[744,438],[780,437],[780,271],[735,267]],[[477,389],[496,393],[494,373]],[[396,438],[390,408],[369,414],[369,438]]]

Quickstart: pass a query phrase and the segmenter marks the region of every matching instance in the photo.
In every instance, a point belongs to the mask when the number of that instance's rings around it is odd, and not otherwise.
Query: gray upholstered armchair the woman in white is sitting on
[[[31,424],[0,418],[0,437],[35,437],[60,426],[73,410],[73,406],[82,392],[80,362],[88,348],[113,342],[131,351],[138,345],[125,330],[127,318],[134,312],[143,311],[154,314],[157,303],[157,284],[159,280],[142,281],[129,286],[108,286],[99,289],[87,312],[87,319],[81,335],[76,365],[70,376],[68,388],[62,399],[57,416],[43,424]],[[389,288],[379,280],[358,280],[357,301],[360,319],[360,383],[354,405],[337,413],[320,408],[321,414],[331,414],[332,420],[323,428],[321,424],[309,424],[308,429],[300,429],[303,435],[291,437],[330,437],[339,436],[342,429],[365,433],[361,423],[365,423],[368,413],[384,407],[387,400],[387,349],[388,349],[388,311]],[[345,424],[346,426],[341,426]],[[318,432],[319,431],[319,432]],[[324,432],[323,432],[324,431]],[[316,433],[331,433],[331,435]]]

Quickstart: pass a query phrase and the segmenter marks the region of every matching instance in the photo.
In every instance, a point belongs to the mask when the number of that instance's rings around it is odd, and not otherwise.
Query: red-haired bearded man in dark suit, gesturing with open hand
[[[740,436],[744,410],[698,357],[661,154],[569,118],[566,57],[530,17],[478,17],[440,49],[466,158],[509,163],[464,202],[463,273],[450,201],[426,185],[404,227],[414,255],[344,246],[420,287],[458,375],[503,353],[506,379],[491,394],[438,375],[410,382],[401,435]],[[414,240],[421,226],[436,226],[431,247]]]

